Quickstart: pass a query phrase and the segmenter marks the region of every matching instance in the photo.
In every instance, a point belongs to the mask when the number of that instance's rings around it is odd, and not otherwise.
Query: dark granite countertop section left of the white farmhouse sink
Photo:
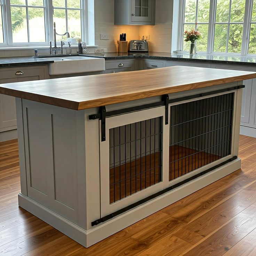
[[[27,65],[43,65],[47,63],[53,63],[46,59],[35,58],[35,57],[6,57],[0,58],[0,67],[11,67],[11,66],[27,66]]]

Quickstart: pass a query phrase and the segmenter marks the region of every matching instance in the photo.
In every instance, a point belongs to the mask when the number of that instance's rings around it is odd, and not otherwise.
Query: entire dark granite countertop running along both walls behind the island
[[[127,59],[127,58],[149,58],[149,59],[163,59],[167,61],[191,61],[202,63],[219,63],[219,64],[235,64],[235,65],[250,65],[256,66],[256,56],[230,56],[230,55],[217,55],[217,54],[195,54],[192,57],[189,54],[183,53],[104,53],[104,54],[79,54],[80,56],[98,57],[104,59]],[[58,56],[70,56],[70,55],[58,55]],[[78,54],[72,54],[72,56],[78,56]],[[43,65],[47,63],[53,63],[43,57],[55,57],[55,56],[38,56],[38,57],[8,57],[0,58],[0,67],[9,66],[27,66],[27,65]]]

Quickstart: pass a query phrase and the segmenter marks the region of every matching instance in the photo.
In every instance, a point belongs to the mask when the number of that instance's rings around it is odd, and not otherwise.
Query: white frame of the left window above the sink
[[[48,48],[49,42],[54,40],[53,35],[53,1],[44,0],[45,2],[45,30],[46,42],[25,42],[13,43],[10,15],[10,0],[2,0],[2,19],[3,19],[3,38],[4,42],[0,43],[0,48],[30,48],[40,47]],[[30,6],[29,6],[30,7]],[[60,8],[74,9],[74,8]],[[76,8],[75,8],[76,9]],[[57,28],[56,31],[58,32]],[[81,40],[87,45],[94,46],[94,0],[81,0]]]

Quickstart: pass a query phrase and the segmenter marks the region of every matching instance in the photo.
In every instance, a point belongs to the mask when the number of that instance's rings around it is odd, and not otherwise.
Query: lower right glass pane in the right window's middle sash
[[[227,48],[229,53],[241,53],[242,33],[242,24],[230,24],[229,45]]]

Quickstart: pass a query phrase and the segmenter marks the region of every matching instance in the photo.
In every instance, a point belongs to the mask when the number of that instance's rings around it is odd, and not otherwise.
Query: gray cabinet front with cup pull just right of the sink
[[[135,70],[135,60],[106,61],[103,74],[127,72]]]

